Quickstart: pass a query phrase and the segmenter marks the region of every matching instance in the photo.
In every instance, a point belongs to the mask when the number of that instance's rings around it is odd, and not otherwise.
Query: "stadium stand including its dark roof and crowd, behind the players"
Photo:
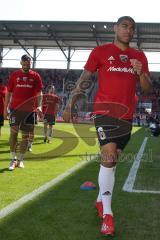
[[[62,98],[62,108],[66,104],[70,91],[74,88],[75,80],[81,70],[70,70],[72,61],[71,51],[91,50],[96,45],[112,42],[114,37],[114,22],[63,22],[63,21],[0,21],[0,65],[3,66],[3,50],[23,49],[27,53],[33,51],[33,68],[38,61],[37,50],[59,49],[65,56],[66,69],[36,69],[44,79],[44,90],[54,84],[58,95]],[[144,51],[159,51],[159,23],[137,23],[132,46]],[[15,70],[15,69],[14,69]],[[13,69],[1,68],[1,77],[5,82]],[[135,111],[135,123],[147,124],[151,110],[154,117],[160,115],[160,74],[151,73],[153,91],[144,96],[137,88],[138,103]],[[96,77],[95,77],[96,79]],[[88,89],[87,97],[93,101],[96,81]],[[150,110],[151,109],[151,110]]]

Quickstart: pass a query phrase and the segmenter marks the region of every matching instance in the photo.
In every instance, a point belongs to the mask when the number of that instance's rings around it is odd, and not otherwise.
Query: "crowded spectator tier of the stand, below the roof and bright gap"
[[[7,84],[9,75],[15,68],[1,68],[0,74],[3,81]],[[62,106],[61,111],[66,105],[66,101],[73,90],[74,85],[82,70],[70,70],[66,69],[37,69],[43,79],[44,92],[47,91],[47,86],[54,85],[56,87],[57,94],[61,98]],[[96,76],[93,76],[93,84],[88,88],[87,101],[92,102],[97,89]],[[152,92],[148,95],[143,95],[137,86],[138,102],[136,105],[134,124],[149,126],[149,119],[154,118],[159,121],[160,119],[160,74],[157,72],[151,72],[151,80],[153,84]],[[86,101],[86,99],[84,100]],[[80,109],[82,109],[82,101]],[[88,112],[90,110],[88,109]],[[84,113],[84,118],[86,117]],[[61,113],[59,113],[61,116]],[[88,117],[88,114],[87,114]],[[86,117],[86,118],[87,118]],[[81,120],[84,118],[81,117]],[[60,119],[60,117],[59,117]]]

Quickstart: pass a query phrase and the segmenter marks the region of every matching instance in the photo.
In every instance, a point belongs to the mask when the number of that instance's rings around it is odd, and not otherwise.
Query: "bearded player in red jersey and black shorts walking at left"
[[[28,55],[21,57],[21,66],[21,69],[11,74],[5,98],[5,117],[7,107],[10,108],[11,163],[9,170],[14,170],[16,166],[24,168],[23,159],[28,146],[29,133],[34,129],[35,110],[42,113],[42,79],[37,72],[30,69],[31,58]],[[35,98],[38,102],[36,109]],[[22,132],[22,140],[17,158],[16,145],[19,130]]]

